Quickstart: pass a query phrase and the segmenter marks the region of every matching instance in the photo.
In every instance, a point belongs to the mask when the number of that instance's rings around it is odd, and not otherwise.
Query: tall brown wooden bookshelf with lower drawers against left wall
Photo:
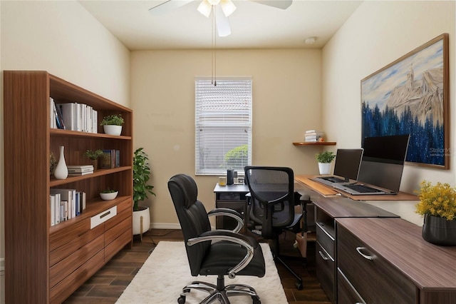
[[[104,116],[121,113],[121,136],[50,128],[50,102],[85,103]],[[120,167],[57,180],[49,155],[65,147],[67,165],[88,164],[90,149],[120,151]],[[4,71],[5,300],[62,303],[125,245],[133,244],[133,111],[46,71]],[[104,188],[116,188],[102,201]],[[80,216],[51,226],[51,188],[86,192]],[[106,213],[107,221],[92,222]]]

